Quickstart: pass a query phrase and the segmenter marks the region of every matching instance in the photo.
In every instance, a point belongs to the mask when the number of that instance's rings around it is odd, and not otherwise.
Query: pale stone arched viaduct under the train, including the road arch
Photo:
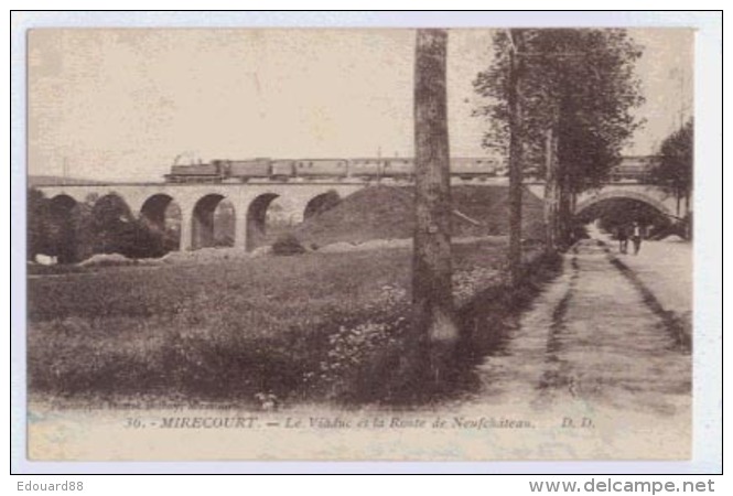
[[[456,184],[508,184],[506,177],[462,181]],[[57,215],[69,214],[77,203],[100,202],[116,198],[125,202],[130,213],[139,215],[158,228],[165,228],[165,212],[174,202],[181,212],[181,250],[195,250],[214,245],[214,213],[220,202],[230,202],[235,212],[234,246],[246,250],[256,247],[255,239],[265,233],[268,207],[276,198],[287,200],[294,222],[306,219],[320,212],[334,195],[343,198],[369,187],[370,182],[358,180],[313,182],[248,182],[245,184],[209,183],[116,183],[89,185],[37,186],[51,200]],[[526,191],[543,196],[543,183],[526,182]],[[656,186],[638,182],[608,183],[599,190],[588,191],[578,197],[575,214],[611,198],[628,198],[653,206],[662,215],[679,217],[677,201]]]

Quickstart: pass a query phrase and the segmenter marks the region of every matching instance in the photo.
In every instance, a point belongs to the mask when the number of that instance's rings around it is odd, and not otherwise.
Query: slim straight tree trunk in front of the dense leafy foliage
[[[519,283],[521,273],[521,78],[522,33],[509,30],[513,48],[509,52],[509,280]]]

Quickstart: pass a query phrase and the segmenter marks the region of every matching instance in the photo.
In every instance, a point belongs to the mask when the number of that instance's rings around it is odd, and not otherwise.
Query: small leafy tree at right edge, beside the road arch
[[[694,123],[689,120],[662,141],[659,162],[649,171],[649,180],[677,198],[678,217],[687,217],[690,208],[693,141]],[[680,208],[680,201],[685,201],[683,208]]]

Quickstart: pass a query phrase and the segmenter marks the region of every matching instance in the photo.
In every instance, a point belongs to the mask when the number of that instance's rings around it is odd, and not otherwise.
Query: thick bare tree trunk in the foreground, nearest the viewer
[[[444,30],[418,30],[414,69],[416,229],[412,325],[433,381],[457,342],[451,281],[451,190]],[[425,353],[427,352],[427,353]]]

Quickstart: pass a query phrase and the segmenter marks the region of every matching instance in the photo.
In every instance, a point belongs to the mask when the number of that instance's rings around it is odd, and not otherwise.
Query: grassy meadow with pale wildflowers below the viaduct
[[[454,247],[454,291],[496,284],[504,241]],[[410,250],[105,268],[29,281],[32,395],[120,401],[379,399]]]

